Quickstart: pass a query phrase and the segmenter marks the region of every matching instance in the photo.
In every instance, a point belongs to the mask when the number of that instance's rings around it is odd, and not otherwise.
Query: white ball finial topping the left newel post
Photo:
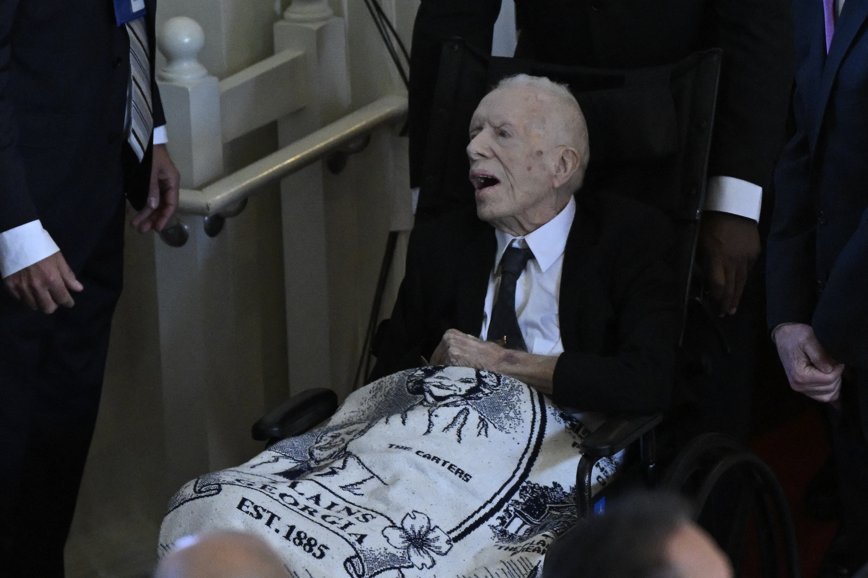
[[[196,60],[205,46],[205,32],[193,18],[169,18],[160,30],[157,45],[167,61],[157,73],[161,81],[195,81],[208,75],[207,69]]]

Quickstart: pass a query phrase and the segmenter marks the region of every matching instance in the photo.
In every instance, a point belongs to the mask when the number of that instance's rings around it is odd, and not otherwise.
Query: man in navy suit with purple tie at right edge
[[[792,388],[832,415],[842,524],[821,575],[847,576],[868,559],[868,2],[796,0],[793,20],[768,325]]]

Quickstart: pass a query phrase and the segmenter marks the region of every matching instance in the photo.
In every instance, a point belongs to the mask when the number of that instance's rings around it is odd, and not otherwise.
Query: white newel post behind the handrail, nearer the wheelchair
[[[286,146],[339,119],[350,106],[344,21],[325,0],[293,0],[274,24],[274,52],[305,53],[310,106],[278,121]],[[322,164],[280,183],[291,393],[332,385]]]

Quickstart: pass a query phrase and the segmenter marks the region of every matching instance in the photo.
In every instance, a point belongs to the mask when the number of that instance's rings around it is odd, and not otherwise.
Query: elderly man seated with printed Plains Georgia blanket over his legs
[[[576,464],[601,415],[667,406],[673,237],[661,212],[581,190],[585,120],[548,79],[501,81],[467,153],[476,214],[413,231],[379,379],[318,429],[186,484],[161,549],[239,529],[293,575],[542,569],[577,519]],[[595,489],[617,465],[596,462]]]

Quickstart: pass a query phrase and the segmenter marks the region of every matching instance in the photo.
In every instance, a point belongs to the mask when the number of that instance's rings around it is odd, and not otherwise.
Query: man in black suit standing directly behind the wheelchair
[[[490,54],[501,2],[422,0],[420,5],[410,88],[411,186],[422,185],[418,223],[471,202],[469,192],[457,187],[451,196],[426,196],[422,172],[431,104],[442,42],[461,36]],[[702,401],[700,421],[701,427],[744,441],[762,332],[762,291],[750,272],[760,250],[763,187],[783,140],[792,84],[788,8],[786,0],[516,0],[516,57],[590,68],[642,68],[679,62],[696,50],[723,50],[698,257],[727,346],[708,352],[711,384],[702,389],[710,397]],[[653,180],[644,169],[625,178],[621,167],[615,173],[599,168],[592,160],[589,184],[628,196]],[[704,320],[693,325],[710,327]],[[719,334],[704,341],[719,344]]]

